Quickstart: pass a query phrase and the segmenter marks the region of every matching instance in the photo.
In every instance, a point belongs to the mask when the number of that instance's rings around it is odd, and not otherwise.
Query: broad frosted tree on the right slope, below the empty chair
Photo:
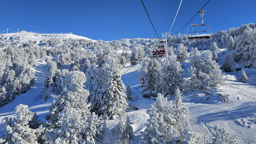
[[[205,57],[202,57],[195,49],[193,58],[190,61],[191,67],[188,69],[191,76],[191,85],[197,88],[210,89],[212,86],[223,85],[223,75],[220,66],[212,60],[210,51],[206,51]]]

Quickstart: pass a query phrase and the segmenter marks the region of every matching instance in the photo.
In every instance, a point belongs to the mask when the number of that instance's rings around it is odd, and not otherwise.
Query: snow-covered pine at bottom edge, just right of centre
[[[168,101],[162,94],[158,94],[156,101],[147,109],[149,119],[146,129],[141,132],[141,144],[165,144],[173,143],[177,137],[177,130],[174,129],[176,120],[172,108],[172,101]]]

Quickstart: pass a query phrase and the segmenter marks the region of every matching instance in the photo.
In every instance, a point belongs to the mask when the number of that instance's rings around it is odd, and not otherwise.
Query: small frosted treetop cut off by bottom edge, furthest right
[[[231,136],[225,128],[220,128],[219,125],[215,125],[212,134],[212,144],[238,144],[236,136]]]

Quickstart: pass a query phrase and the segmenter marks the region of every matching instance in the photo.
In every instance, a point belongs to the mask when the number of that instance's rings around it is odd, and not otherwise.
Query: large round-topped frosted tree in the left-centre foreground
[[[83,72],[68,72],[62,80],[61,95],[55,95],[50,114],[46,116],[46,137],[54,143],[102,143],[105,122],[90,112],[85,102],[89,92],[84,89]]]

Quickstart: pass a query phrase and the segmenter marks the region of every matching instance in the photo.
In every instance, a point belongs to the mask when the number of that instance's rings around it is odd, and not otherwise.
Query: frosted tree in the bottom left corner
[[[34,113],[28,110],[27,105],[19,104],[15,108],[16,118],[5,117],[3,119],[4,139],[6,143],[35,143],[41,134],[39,129],[32,129],[28,123],[32,120]]]

